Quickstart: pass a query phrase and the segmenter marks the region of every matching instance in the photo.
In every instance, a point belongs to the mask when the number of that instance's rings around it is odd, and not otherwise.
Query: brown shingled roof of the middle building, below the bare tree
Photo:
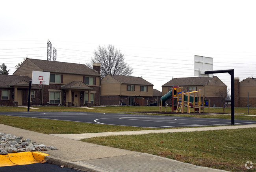
[[[108,75],[115,80],[124,83],[124,84],[135,84],[135,85],[152,85],[152,83],[144,80],[141,77],[136,77],[136,76],[121,76],[121,75]]]

